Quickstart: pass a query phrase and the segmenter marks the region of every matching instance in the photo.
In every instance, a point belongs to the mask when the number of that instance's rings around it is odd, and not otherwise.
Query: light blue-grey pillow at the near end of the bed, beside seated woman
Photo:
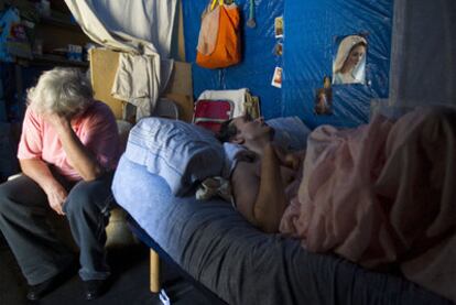
[[[124,156],[162,176],[174,195],[221,174],[224,149],[210,131],[163,118],[144,118],[130,131]]]

